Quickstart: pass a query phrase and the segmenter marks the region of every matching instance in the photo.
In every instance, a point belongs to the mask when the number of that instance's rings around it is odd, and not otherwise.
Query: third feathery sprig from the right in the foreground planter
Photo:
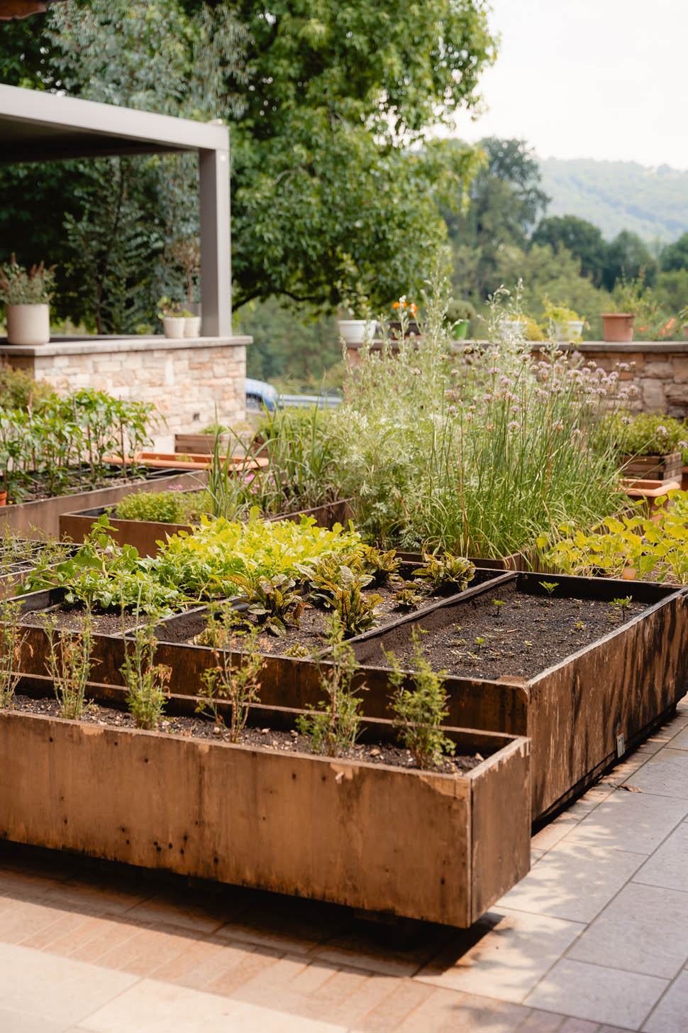
[[[199,714],[210,715],[217,727],[224,729],[230,742],[236,743],[249,719],[253,703],[259,702],[260,671],[263,658],[258,651],[260,629],[241,625],[234,609],[211,613],[216,625],[217,645],[212,649],[215,665],[203,671],[199,689]],[[240,646],[240,653],[236,647]],[[238,654],[238,655],[237,655]],[[224,711],[229,705],[227,725]]]

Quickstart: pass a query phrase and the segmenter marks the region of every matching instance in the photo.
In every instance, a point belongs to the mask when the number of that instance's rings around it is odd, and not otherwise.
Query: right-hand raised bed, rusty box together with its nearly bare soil
[[[418,619],[402,619],[393,627],[368,632],[354,646],[364,668],[361,677],[369,686],[378,686],[384,683],[388,669],[383,647],[403,653],[416,624],[428,632],[452,629],[450,633],[457,640],[453,648],[464,655],[458,658],[457,672],[446,681],[449,721],[532,739],[533,819],[561,807],[612,766],[665,718],[688,689],[688,600],[683,591],[643,582],[554,575],[551,581],[557,582],[556,595],[550,599],[540,586],[542,578],[542,574],[506,574],[497,589],[488,585],[465,601],[438,603]],[[519,624],[505,624],[510,584],[517,601],[538,597],[539,616],[545,621],[539,630],[533,622],[521,630]],[[478,626],[476,612],[486,608],[481,595],[489,600],[487,612],[494,616]],[[612,600],[628,596],[631,608],[625,617],[618,616],[622,607],[608,606]],[[493,598],[506,604],[496,607]],[[567,618],[571,627],[563,633],[559,652],[548,653],[548,622],[557,623],[559,600],[570,607],[575,599],[583,604],[601,601],[603,609],[615,608],[615,620],[605,624],[602,618],[599,635],[586,641],[592,629],[578,629],[576,623],[589,624],[589,619],[577,617],[575,607],[576,619]],[[512,658],[500,645],[499,662],[481,666],[481,654],[491,650],[490,632],[484,633],[484,629],[497,622],[502,637],[516,629],[513,636],[521,639],[521,651],[529,654],[527,662],[516,655],[520,652],[516,647]],[[457,625],[465,625],[465,632],[458,631]],[[569,648],[565,645],[567,634]],[[423,635],[424,645],[429,637]],[[473,640],[458,641],[466,638]],[[476,638],[485,641],[478,644]],[[526,641],[532,645],[526,646]],[[478,654],[479,659],[473,661],[466,654]],[[444,666],[430,647],[428,656],[433,666]],[[381,703],[376,691],[366,693],[366,713],[379,714]]]

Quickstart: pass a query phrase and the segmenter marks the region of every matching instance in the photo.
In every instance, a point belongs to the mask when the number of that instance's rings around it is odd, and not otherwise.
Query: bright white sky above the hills
[[[460,116],[457,135],[688,168],[688,0],[492,0],[490,22],[488,111]]]

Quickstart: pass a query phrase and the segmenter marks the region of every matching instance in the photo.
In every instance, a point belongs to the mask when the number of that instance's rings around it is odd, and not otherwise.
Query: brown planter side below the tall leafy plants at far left
[[[200,478],[200,479],[199,479]],[[126,495],[135,492],[164,492],[170,484],[186,484],[197,488],[204,483],[207,473],[169,473],[163,471],[141,480],[119,483],[113,478],[111,488],[98,488],[91,492],[76,492],[73,495],[56,495],[52,499],[37,502],[18,502],[15,505],[0,507],[0,528],[8,528],[28,538],[60,535],[60,516],[75,509],[91,509],[96,506],[116,505]]]

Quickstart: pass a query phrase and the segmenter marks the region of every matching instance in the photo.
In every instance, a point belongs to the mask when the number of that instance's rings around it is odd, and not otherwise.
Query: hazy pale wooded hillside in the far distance
[[[649,243],[688,230],[688,171],[634,161],[540,159],[547,215],[578,215],[611,240],[630,229]]]

